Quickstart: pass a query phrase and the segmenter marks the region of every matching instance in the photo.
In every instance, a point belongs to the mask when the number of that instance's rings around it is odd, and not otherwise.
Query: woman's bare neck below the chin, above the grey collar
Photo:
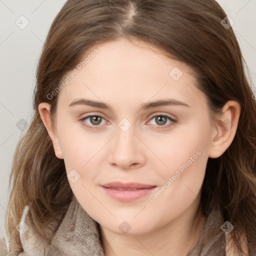
[[[206,218],[197,207],[188,208],[177,219],[145,234],[117,234],[100,225],[105,256],[186,256],[199,240]]]

